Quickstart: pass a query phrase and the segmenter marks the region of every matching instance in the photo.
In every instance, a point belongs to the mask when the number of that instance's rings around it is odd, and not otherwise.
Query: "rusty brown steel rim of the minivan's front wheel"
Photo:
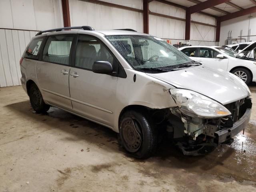
[[[124,141],[124,148],[129,152],[137,152],[142,143],[139,124],[132,118],[125,118],[121,122],[121,135]]]

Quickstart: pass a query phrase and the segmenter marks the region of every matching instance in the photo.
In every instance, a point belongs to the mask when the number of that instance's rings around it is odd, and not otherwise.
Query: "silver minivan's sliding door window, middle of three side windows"
[[[44,47],[42,60],[59,64],[69,64],[70,48],[74,36],[49,36]]]

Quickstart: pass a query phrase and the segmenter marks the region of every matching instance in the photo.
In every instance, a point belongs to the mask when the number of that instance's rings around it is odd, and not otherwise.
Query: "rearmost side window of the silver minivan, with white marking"
[[[44,38],[33,39],[26,48],[24,58],[38,59],[43,40]]]

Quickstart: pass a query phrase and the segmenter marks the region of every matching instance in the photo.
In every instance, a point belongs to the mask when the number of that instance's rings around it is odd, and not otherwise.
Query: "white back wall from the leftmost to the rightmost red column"
[[[101,0],[132,8],[142,9],[142,0]],[[72,26],[89,25],[96,30],[132,28],[138,32],[143,32],[142,13],[113,8],[110,6],[90,3],[82,0],[69,0],[70,21]],[[150,2],[151,12],[174,16],[185,19],[186,12],[182,8],[177,8],[160,2]],[[215,25],[215,18],[202,14],[192,14],[191,19]],[[171,42],[185,42],[185,22],[182,20],[164,18],[161,16],[149,16],[149,33]],[[215,28],[200,24],[191,23],[192,45],[216,45]]]

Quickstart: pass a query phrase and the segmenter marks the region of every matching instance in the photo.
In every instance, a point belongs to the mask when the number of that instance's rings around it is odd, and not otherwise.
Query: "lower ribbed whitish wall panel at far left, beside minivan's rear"
[[[0,29],[0,87],[20,85],[20,58],[34,31]]]

